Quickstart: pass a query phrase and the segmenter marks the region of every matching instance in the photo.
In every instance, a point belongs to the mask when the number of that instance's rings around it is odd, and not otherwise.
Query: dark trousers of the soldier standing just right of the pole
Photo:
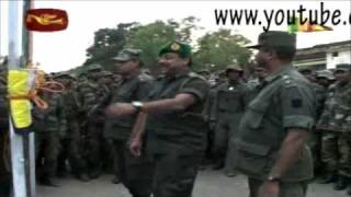
[[[35,134],[35,158],[42,166],[39,177],[54,177],[57,167],[57,157],[60,149],[58,132],[42,131]]]

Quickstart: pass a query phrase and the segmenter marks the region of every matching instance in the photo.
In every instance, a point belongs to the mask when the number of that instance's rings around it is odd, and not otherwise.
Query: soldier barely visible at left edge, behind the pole
[[[10,196],[11,166],[9,139],[9,100],[8,100],[7,59],[0,57],[0,196]]]

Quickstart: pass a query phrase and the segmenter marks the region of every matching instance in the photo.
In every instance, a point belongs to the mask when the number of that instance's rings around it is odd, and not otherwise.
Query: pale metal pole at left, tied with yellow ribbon
[[[24,67],[29,58],[29,36],[24,30],[23,16],[31,7],[31,1],[8,1],[9,3],[9,70]],[[34,164],[34,135],[19,135],[10,116],[11,163],[14,197],[35,196],[35,164]]]

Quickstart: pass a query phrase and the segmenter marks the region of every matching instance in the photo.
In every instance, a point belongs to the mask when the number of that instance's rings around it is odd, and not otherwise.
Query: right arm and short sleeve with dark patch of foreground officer
[[[308,86],[285,86],[281,93],[283,127],[287,135],[270,175],[282,177],[303,155],[309,131],[314,126],[315,95]]]

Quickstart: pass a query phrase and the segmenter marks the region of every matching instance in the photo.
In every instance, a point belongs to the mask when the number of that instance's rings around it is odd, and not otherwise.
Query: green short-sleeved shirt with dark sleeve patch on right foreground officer
[[[316,99],[312,84],[292,66],[263,81],[263,89],[250,102],[236,139],[238,170],[256,178],[265,178],[276,162],[287,129],[310,130],[314,126]],[[307,146],[296,163],[282,175],[286,182],[313,177],[313,163]]]

